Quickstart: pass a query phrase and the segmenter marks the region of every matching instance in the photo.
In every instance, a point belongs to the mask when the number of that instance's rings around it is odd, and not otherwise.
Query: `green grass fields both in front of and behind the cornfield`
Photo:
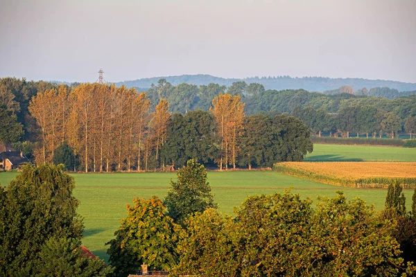
[[[390,159],[389,159],[390,157]],[[416,161],[416,149],[372,146],[315,145],[307,161]],[[16,172],[0,172],[0,184],[6,185],[17,175]],[[163,198],[169,181],[175,173],[110,173],[73,174],[76,180],[74,195],[80,200],[78,212],[83,215],[85,233],[83,244],[100,258],[107,260],[105,242],[114,237],[120,220],[127,215],[126,204],[135,197],[148,198],[157,195]],[[344,190],[349,199],[361,197],[367,204],[383,208],[386,190],[340,188],[315,181],[290,177],[272,171],[208,172],[208,181],[215,201],[223,213],[232,214],[233,207],[255,194],[271,194],[293,188],[294,193],[311,197],[336,195]],[[405,191],[410,209],[412,190]]]

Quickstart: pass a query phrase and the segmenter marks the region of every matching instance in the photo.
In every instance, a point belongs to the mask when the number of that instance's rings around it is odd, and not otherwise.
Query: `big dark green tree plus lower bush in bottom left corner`
[[[83,256],[83,222],[62,168],[26,166],[0,185],[0,276],[107,276],[103,260]]]

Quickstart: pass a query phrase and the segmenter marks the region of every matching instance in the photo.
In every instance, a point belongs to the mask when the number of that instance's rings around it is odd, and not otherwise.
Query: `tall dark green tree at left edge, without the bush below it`
[[[0,275],[32,276],[50,238],[80,240],[83,223],[72,196],[73,178],[62,168],[25,166],[4,189],[0,186]]]

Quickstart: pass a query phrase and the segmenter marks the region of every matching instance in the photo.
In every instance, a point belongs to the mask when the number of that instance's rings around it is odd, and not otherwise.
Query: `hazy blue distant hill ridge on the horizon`
[[[361,78],[326,78],[326,77],[303,77],[303,78],[292,78],[290,76],[278,76],[278,77],[252,77],[244,79],[226,79],[215,77],[211,75],[198,74],[198,75],[180,75],[180,76],[160,76],[153,78],[144,78],[137,80],[130,80],[124,82],[116,82],[117,86],[125,85],[126,87],[140,87],[149,88],[151,84],[157,84],[160,79],[166,79],[173,85],[181,84],[186,82],[188,84],[209,84],[216,83],[220,85],[226,85],[227,87],[236,81],[245,81],[250,84],[252,82],[258,82],[263,84],[266,89],[306,89],[308,91],[329,91],[332,89],[338,89],[343,86],[353,87],[354,90],[372,89],[374,87],[388,87],[390,89],[397,89],[397,91],[415,91],[415,83],[397,82],[390,80],[368,80]]]

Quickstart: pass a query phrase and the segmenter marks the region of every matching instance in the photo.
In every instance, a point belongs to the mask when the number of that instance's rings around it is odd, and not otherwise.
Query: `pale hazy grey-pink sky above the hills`
[[[0,0],[0,77],[416,82],[416,0]]]

